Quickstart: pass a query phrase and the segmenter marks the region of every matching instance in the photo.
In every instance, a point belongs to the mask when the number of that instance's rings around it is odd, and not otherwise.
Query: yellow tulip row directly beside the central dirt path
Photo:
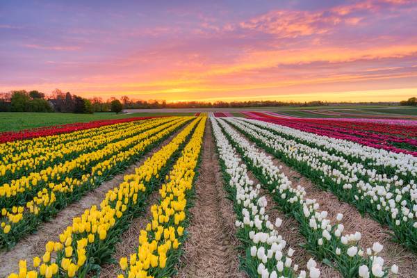
[[[123,274],[119,278],[172,275],[174,260],[169,260],[170,265],[167,265],[167,258],[177,252],[183,237],[181,223],[186,219],[187,196],[193,186],[205,123],[206,117],[199,122],[181,158],[167,175],[167,183],[159,190],[161,203],[151,207],[152,220],[140,231],[138,251],[131,254],[129,263],[127,257],[120,259]]]

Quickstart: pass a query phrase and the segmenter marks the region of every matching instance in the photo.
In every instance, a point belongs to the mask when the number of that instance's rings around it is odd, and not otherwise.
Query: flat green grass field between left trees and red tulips
[[[91,122],[96,120],[114,120],[126,117],[160,116],[167,113],[95,113],[95,114],[70,114],[70,113],[0,113],[0,132],[19,131],[33,129],[40,126],[54,126],[57,124],[72,124],[74,122]],[[190,116],[193,113],[169,113],[169,115]]]

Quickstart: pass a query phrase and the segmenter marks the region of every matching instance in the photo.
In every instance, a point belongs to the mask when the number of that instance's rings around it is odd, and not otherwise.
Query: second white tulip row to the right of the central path
[[[234,142],[245,163],[272,194],[279,207],[300,223],[300,233],[306,238],[306,250],[320,261],[332,265],[343,277],[388,275],[384,259],[377,256],[382,251],[382,245],[374,243],[372,249],[363,250],[359,246],[361,234],[358,231],[343,234],[344,227],[340,222],[343,215],[338,214],[338,222],[332,223],[327,218],[327,211],[320,211],[316,199],[309,199],[302,186],[293,186],[270,156],[256,149],[224,120],[220,120],[220,124],[227,138]],[[247,131],[242,125],[234,124],[240,131]],[[393,265],[392,270],[398,272],[397,266]]]

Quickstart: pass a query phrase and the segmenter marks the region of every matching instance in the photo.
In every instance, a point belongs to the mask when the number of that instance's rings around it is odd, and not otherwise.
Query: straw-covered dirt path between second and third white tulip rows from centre
[[[237,129],[235,130],[240,133]],[[240,135],[245,137],[243,133],[240,133]],[[263,149],[257,147],[253,142],[252,145],[254,145],[259,152],[266,153]],[[337,213],[343,213],[343,220],[341,223],[345,226],[344,234],[352,234],[355,231],[359,231],[362,235],[359,243],[365,248],[372,247],[375,242],[379,242],[384,245],[384,250],[382,250],[379,256],[382,256],[384,259],[384,265],[389,265],[391,267],[391,265],[395,263],[399,266],[400,270],[397,277],[415,278],[417,276],[417,256],[409,250],[406,250],[398,243],[394,243],[391,240],[391,236],[387,234],[389,232],[388,228],[382,227],[381,224],[367,216],[362,217],[354,206],[339,201],[335,195],[318,188],[313,181],[302,176],[302,174],[293,169],[293,167],[289,167],[271,154],[268,155],[272,158],[274,165],[281,167],[281,172],[288,177],[288,179],[292,182],[293,187],[300,184],[306,190],[306,197],[317,200],[318,204],[320,204],[320,210],[327,211],[327,218],[332,220],[333,223],[336,222]],[[282,219],[284,220],[284,218]],[[290,225],[288,229],[284,229],[283,232],[290,232],[290,229],[295,229],[295,227],[298,229],[298,226],[294,225],[297,225],[295,220],[293,220],[293,224]],[[320,277],[330,278],[336,276],[334,276],[330,270],[326,270],[325,272],[322,272]]]

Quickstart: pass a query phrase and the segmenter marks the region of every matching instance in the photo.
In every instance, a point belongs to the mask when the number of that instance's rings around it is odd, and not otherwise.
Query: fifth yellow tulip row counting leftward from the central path
[[[129,124],[123,124],[124,126],[122,124],[112,125],[111,129],[105,129],[100,133],[88,136],[88,138],[55,145],[55,150],[51,150],[49,146],[38,148],[37,151],[40,150],[42,153],[40,156],[33,156],[33,150],[20,152],[13,156],[13,161],[0,165],[0,184],[8,183],[13,179],[19,179],[19,177],[26,176],[31,172],[39,172],[51,165],[71,161],[81,156],[81,154],[96,151],[109,143],[134,136],[144,131],[143,126],[148,127],[149,123],[158,122],[158,124],[163,124],[164,120],[165,122],[169,122],[170,118],[163,118],[162,121],[145,120],[141,122],[130,122]]]

